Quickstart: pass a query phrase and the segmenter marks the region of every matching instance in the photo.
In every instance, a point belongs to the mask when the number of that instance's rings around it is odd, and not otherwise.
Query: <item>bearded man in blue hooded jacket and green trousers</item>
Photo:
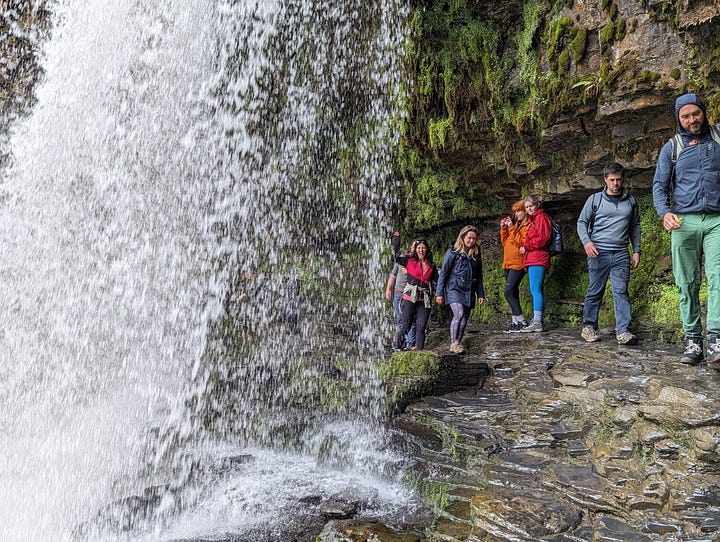
[[[708,282],[707,361],[720,362],[720,133],[695,94],[675,101],[678,134],[663,146],[653,179],[653,203],[671,232],[675,284],[685,333],[682,363],[703,359],[700,283]]]

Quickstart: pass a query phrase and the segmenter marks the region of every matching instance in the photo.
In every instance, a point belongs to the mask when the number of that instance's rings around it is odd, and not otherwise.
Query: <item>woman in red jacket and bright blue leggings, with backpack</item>
[[[528,213],[530,227],[525,237],[525,244],[520,247],[523,254],[525,268],[528,271],[530,293],[533,297],[533,318],[522,332],[543,331],[543,311],[545,297],[543,296],[543,282],[545,271],[550,269],[550,237],[552,235],[552,222],[542,208],[542,201],[536,196],[525,198],[525,211]]]

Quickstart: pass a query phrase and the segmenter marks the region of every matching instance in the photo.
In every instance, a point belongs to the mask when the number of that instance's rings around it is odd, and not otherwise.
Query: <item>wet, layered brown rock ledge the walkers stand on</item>
[[[320,540],[720,540],[719,372],[609,330],[594,344],[568,329],[465,343],[465,356],[436,344],[430,377],[387,378],[434,523],[333,522]]]

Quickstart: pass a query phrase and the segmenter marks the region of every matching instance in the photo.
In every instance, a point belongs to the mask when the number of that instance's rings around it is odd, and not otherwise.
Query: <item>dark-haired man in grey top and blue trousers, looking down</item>
[[[608,278],[615,305],[615,334],[618,344],[635,344],[630,331],[630,269],[640,263],[640,216],[635,198],[623,188],[625,168],[608,164],[603,170],[605,189],[590,196],[577,222],[577,232],[588,257],[589,284],[583,304],[581,336],[587,342],[600,340],[598,313]],[[632,244],[632,256],[628,252]]]

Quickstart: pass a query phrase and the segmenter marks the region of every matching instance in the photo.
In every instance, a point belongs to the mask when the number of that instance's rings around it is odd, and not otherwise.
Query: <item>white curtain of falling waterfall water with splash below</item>
[[[371,369],[399,0],[53,10],[0,185],[0,539],[407,513]]]

